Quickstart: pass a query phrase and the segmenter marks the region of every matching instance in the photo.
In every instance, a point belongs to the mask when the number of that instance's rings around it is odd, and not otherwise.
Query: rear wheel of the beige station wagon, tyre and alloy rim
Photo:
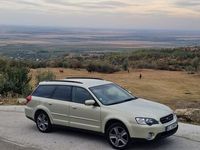
[[[52,124],[50,122],[49,116],[43,111],[36,115],[35,122],[40,132],[48,133],[52,130]]]

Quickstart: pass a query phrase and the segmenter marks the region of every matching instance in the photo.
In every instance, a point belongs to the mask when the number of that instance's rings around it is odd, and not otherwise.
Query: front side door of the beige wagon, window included
[[[73,87],[72,103],[70,105],[70,126],[100,131],[100,106],[86,106],[85,100],[94,99],[88,90],[82,87]]]

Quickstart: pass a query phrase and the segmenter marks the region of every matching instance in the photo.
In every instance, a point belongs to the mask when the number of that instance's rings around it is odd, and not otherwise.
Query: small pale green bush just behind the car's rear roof
[[[49,81],[55,79],[56,75],[51,71],[38,72],[36,76],[36,84],[38,85],[42,81]]]

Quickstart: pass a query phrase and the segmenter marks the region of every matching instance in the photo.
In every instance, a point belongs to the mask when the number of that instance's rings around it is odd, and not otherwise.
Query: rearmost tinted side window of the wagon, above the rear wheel
[[[40,85],[34,92],[33,96],[50,98],[55,90],[53,85]]]

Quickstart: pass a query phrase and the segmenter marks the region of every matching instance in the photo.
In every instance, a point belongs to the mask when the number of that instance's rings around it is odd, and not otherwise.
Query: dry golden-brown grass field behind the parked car
[[[100,77],[118,83],[132,91],[136,96],[151,99],[169,105],[173,109],[198,107],[200,108],[200,76],[190,75],[179,71],[160,70],[131,70],[114,74],[88,73],[86,70],[64,69],[60,73],[58,68],[39,69],[50,70],[57,79],[70,76]],[[139,74],[142,73],[142,79]],[[32,84],[35,84],[37,70],[31,70]]]

